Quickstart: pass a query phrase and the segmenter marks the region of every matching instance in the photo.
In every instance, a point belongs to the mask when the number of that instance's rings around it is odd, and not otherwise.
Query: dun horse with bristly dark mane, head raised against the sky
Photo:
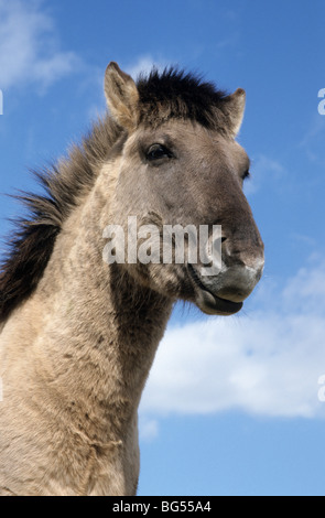
[[[2,496],[136,495],[138,407],[175,302],[232,315],[262,276],[236,141],[245,90],[177,67],[133,80],[111,62],[105,95],[91,131],[35,173],[42,194],[20,196],[29,216],[1,265]],[[105,260],[107,227],[127,231],[130,217],[160,236],[220,228],[219,268],[118,260],[118,241]]]

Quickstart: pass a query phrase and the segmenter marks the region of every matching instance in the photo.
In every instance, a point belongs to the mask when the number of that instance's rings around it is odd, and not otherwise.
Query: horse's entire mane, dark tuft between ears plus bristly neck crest
[[[153,69],[148,77],[140,76],[137,86],[140,122],[156,126],[169,118],[182,118],[207,128],[223,127],[223,112],[215,108],[221,107],[224,91],[192,74],[173,67],[162,73]],[[43,195],[15,196],[29,215],[14,223],[15,233],[0,263],[0,324],[37,287],[63,223],[83,194],[93,188],[96,171],[121,134],[122,129],[107,115],[65,160],[34,172]]]

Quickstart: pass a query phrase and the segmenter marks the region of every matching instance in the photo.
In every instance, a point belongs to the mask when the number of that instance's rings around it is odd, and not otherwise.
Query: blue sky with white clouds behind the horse
[[[238,316],[176,306],[140,407],[140,495],[325,495],[324,48],[322,0],[0,0],[1,193],[35,190],[29,169],[87,131],[112,60],[247,91],[264,277]],[[20,212],[1,196],[1,237]]]

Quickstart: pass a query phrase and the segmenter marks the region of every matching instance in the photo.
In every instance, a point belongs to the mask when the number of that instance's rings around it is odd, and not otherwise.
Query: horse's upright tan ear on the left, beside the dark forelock
[[[138,121],[138,88],[132,77],[113,62],[106,68],[105,95],[116,121],[128,131],[133,130]]]

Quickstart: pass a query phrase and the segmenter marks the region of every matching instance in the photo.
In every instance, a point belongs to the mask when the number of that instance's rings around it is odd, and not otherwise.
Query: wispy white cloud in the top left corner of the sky
[[[79,65],[74,52],[59,48],[54,22],[42,2],[0,0],[0,86],[46,88]]]

